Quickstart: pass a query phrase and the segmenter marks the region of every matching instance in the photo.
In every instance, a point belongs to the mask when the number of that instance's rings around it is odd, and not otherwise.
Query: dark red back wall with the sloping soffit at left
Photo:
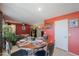
[[[30,34],[30,25],[25,24],[26,30],[22,31],[22,23],[21,22],[16,21],[16,20],[12,19],[11,17],[9,17],[7,15],[4,15],[4,19],[5,19],[4,21],[6,23],[16,25],[16,34],[17,35],[20,35],[20,34]]]

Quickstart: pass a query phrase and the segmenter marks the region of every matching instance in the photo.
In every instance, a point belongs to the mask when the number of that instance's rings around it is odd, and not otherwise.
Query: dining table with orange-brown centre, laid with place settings
[[[23,42],[17,43],[17,46],[22,49],[26,49],[29,55],[33,55],[36,49],[41,49],[43,47],[46,47],[45,50],[47,50],[47,41],[43,41],[43,40],[28,41],[28,42],[24,41],[24,43]]]

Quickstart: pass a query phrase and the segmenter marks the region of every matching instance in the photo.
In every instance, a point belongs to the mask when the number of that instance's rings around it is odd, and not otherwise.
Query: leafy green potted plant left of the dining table
[[[5,24],[3,25],[3,38],[4,40],[8,40],[13,45],[16,43],[17,37],[14,33],[12,33],[12,28]]]

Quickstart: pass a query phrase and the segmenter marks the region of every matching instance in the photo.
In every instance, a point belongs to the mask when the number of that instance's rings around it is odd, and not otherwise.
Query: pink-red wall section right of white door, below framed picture
[[[69,51],[79,55],[79,28],[69,28],[68,43]]]

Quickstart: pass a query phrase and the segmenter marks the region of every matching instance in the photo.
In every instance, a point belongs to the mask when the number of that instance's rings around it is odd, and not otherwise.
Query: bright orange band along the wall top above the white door
[[[79,11],[62,15],[62,16],[58,16],[58,17],[51,17],[49,19],[46,19],[44,23],[50,24],[50,23],[53,23],[54,21],[63,20],[63,19],[71,19],[71,18],[79,18]]]

